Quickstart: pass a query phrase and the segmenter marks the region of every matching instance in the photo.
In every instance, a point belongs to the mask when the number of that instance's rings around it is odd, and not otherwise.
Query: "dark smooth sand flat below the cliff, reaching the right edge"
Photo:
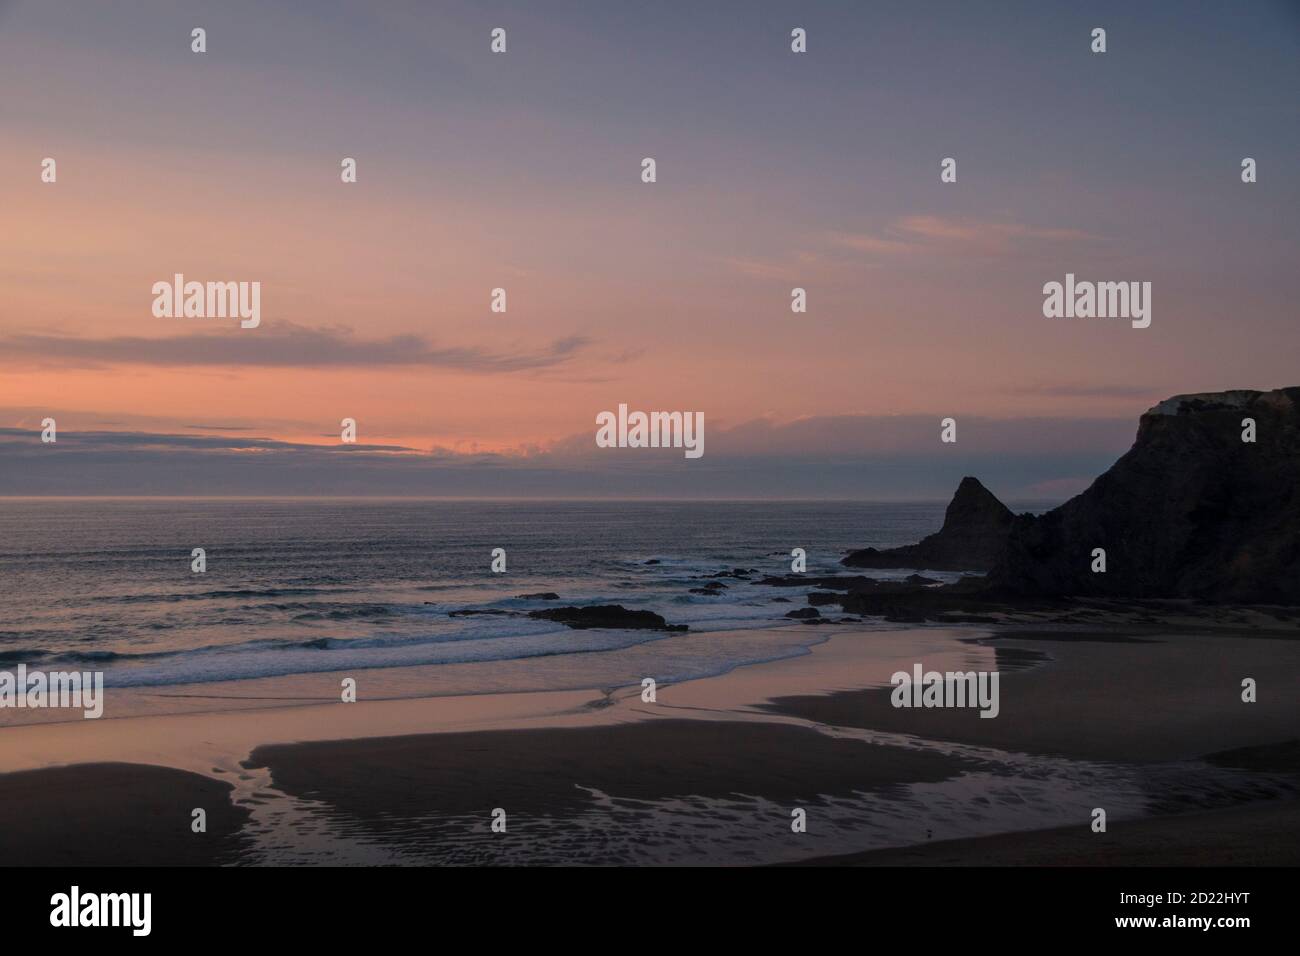
[[[987,643],[1053,658],[1015,670],[1000,663],[1001,713],[993,719],[972,709],[894,708],[888,687],[783,696],[766,706],[838,727],[1101,761],[1190,760],[1300,736],[1296,640],[1062,633]],[[1242,701],[1243,678],[1258,682],[1254,704]]]

